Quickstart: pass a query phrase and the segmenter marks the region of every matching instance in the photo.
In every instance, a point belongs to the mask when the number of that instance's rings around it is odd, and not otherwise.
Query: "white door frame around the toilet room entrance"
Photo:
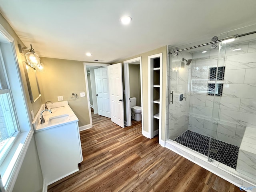
[[[124,121],[124,124],[126,126],[132,125],[132,117],[131,117],[131,105],[130,105],[130,79],[129,79],[129,63],[139,61],[140,62],[140,97],[141,97],[141,124],[142,124],[142,131],[144,127],[144,118],[143,118],[143,91],[142,91],[142,58],[136,57],[130,60],[124,61],[124,94],[125,94],[125,103],[126,103],[126,121]]]

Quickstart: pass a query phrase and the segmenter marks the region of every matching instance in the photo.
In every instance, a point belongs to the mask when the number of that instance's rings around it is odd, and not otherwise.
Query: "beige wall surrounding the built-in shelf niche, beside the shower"
[[[167,62],[167,46],[154,49],[152,51],[142,53],[115,63],[124,62],[136,57],[142,57],[142,92],[143,92],[143,121],[144,131],[148,132],[148,56],[163,53],[163,80],[162,80],[162,140],[165,140],[165,110],[166,110],[166,62]]]

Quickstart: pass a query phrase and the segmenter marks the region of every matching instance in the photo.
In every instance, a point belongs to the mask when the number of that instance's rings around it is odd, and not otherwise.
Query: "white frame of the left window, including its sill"
[[[2,59],[6,69],[6,76],[12,93],[12,102],[16,111],[16,119],[20,131],[6,158],[0,165],[0,185],[4,186],[5,192],[11,192],[14,188],[34,130],[32,128],[32,120],[29,116],[28,101],[23,85],[24,80],[22,80],[20,71],[22,70],[22,62],[19,64],[16,54],[18,44],[1,24],[0,36],[4,37],[1,38],[2,43],[0,44],[0,48],[2,50]]]

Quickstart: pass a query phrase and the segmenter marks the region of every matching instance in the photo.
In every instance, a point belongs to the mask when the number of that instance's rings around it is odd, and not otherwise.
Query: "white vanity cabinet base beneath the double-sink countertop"
[[[78,171],[83,157],[77,118],[35,130],[34,136],[46,185]]]

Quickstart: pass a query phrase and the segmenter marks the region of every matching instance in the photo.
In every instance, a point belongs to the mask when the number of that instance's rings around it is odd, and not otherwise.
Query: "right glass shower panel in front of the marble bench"
[[[256,26],[241,28],[220,38],[255,30]],[[251,141],[256,140],[251,131],[256,128],[256,34],[220,42],[217,67],[223,68],[223,79],[216,80],[216,84],[222,84],[222,92],[213,103],[216,110],[212,122],[216,127],[212,131],[216,133],[212,134],[208,159],[255,178],[256,154],[250,148],[256,148],[256,142],[247,142],[244,136],[248,133],[254,137]],[[218,73],[217,78],[222,74]]]

